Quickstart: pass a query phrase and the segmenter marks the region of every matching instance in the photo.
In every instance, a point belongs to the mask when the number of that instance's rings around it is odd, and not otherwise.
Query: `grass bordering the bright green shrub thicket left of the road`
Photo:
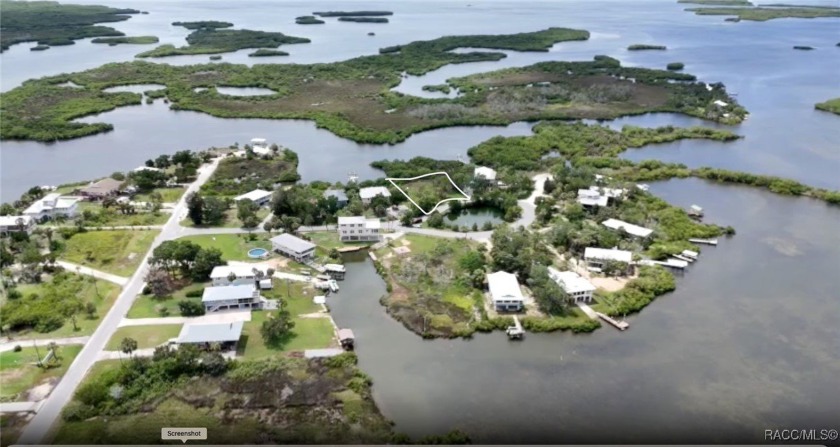
[[[66,284],[65,290],[72,290],[74,295],[81,298],[82,301],[91,302],[96,305],[95,318],[89,319],[87,315],[80,314],[76,319],[76,326],[78,331],[73,330],[73,323],[70,320],[65,321],[64,325],[52,332],[35,332],[33,330],[21,331],[15,333],[15,337],[26,338],[65,338],[65,337],[79,337],[82,335],[90,335],[99,326],[102,318],[111,309],[114,300],[120,294],[120,287],[114,283],[102,280],[94,280],[89,276],[73,275],[71,284]],[[46,278],[45,278],[46,281]],[[18,286],[18,291],[24,296],[32,293],[43,295],[43,290],[46,287],[46,282],[40,284],[21,284]],[[99,292],[97,294],[97,291]]]

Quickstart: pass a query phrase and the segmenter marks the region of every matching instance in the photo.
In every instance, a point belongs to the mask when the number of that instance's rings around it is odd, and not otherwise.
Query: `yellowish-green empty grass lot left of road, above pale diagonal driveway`
[[[157,231],[88,231],[67,240],[60,258],[97,270],[131,276],[149,251]]]

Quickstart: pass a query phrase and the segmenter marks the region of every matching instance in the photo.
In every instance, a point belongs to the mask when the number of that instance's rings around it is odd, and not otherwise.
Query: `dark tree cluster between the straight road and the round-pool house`
[[[149,264],[169,275],[180,275],[194,281],[204,281],[219,265],[225,265],[217,248],[202,248],[186,240],[164,241],[152,252]]]

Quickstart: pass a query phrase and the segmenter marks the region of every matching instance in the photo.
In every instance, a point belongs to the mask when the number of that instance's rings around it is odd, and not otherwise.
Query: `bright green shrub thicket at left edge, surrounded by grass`
[[[41,285],[39,293],[23,296],[17,289],[9,288],[8,301],[0,313],[0,326],[4,331],[34,329],[51,332],[62,327],[67,320],[75,327],[80,315],[95,318],[96,305],[80,297],[82,290],[91,283],[98,293],[95,279],[57,272],[50,282]]]

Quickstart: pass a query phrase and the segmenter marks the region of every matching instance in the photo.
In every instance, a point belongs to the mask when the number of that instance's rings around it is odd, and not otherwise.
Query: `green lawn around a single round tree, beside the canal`
[[[269,311],[255,311],[251,314],[251,321],[246,322],[242,329],[239,355],[252,360],[335,345],[333,326],[328,318],[294,318],[295,327],[288,339],[281,346],[266,346],[260,335],[260,327],[270,313]]]

